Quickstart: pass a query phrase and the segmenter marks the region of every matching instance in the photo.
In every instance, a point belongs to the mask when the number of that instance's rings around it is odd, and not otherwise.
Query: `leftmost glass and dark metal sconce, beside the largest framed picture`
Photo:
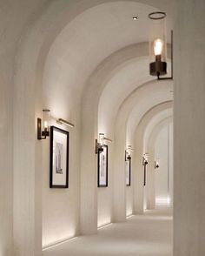
[[[45,139],[50,136],[49,122],[50,110],[43,110],[43,125],[42,119],[37,118],[37,139]]]

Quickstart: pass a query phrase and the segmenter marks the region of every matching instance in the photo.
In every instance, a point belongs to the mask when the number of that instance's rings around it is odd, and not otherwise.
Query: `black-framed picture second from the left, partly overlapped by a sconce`
[[[108,145],[103,145],[103,152],[98,153],[97,186],[108,186]]]

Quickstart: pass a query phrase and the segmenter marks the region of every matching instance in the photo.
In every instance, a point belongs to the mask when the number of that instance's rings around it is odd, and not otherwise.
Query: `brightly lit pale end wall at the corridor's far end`
[[[155,140],[155,159],[159,158],[160,168],[155,169],[156,205],[168,204],[173,195],[173,133],[172,125],[162,129]]]

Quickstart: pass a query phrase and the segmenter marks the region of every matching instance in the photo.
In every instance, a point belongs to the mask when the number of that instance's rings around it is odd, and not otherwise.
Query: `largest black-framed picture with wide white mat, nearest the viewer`
[[[69,187],[69,131],[50,127],[50,188]]]

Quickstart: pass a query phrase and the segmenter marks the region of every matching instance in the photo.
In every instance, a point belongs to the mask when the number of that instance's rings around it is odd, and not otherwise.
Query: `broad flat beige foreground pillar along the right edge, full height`
[[[175,0],[174,255],[205,255],[205,1]]]

